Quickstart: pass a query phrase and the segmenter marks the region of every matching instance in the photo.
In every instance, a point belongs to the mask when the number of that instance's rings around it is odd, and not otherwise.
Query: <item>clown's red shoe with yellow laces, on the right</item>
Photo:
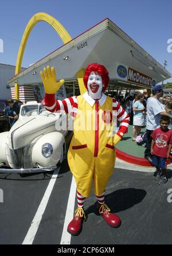
[[[105,222],[112,228],[118,228],[120,226],[121,221],[119,219],[119,216],[114,213],[110,213],[110,208],[108,208],[106,204],[98,204],[97,211],[101,214]]]

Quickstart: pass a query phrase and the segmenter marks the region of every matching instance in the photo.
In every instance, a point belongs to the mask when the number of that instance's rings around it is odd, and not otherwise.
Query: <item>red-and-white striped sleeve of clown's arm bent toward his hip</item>
[[[120,106],[120,103],[118,103],[118,101],[116,101],[115,99],[113,99],[112,108],[113,111],[117,111],[117,119],[120,123],[119,131],[116,134],[122,138],[123,136],[120,133],[124,134],[127,132],[128,125],[130,123],[130,117],[127,112],[122,108],[122,106]]]

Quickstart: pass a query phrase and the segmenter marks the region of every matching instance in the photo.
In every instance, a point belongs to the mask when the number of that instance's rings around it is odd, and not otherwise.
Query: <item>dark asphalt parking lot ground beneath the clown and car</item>
[[[172,199],[171,170],[168,176],[169,182],[159,186],[152,173],[115,168],[107,186],[105,201],[111,212],[120,216],[122,225],[117,229],[111,228],[101,216],[97,216],[96,198],[91,194],[84,205],[88,220],[83,223],[79,236],[68,235],[68,244],[171,244],[172,202],[167,201],[168,198]],[[52,192],[44,213],[34,226],[35,233],[33,235],[31,232],[32,238],[29,239],[33,244],[62,243],[64,222],[71,221],[67,219],[67,206],[72,174],[67,160],[62,163],[57,178],[48,172],[22,177],[18,174],[0,174],[0,189],[3,190],[0,244],[24,243],[50,180],[54,181]],[[71,201],[76,208],[75,197]]]

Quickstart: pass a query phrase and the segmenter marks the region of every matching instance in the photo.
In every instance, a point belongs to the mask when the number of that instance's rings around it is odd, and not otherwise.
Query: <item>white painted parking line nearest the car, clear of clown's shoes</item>
[[[45,191],[44,197],[42,198],[41,204],[37,210],[37,213],[34,216],[32,224],[30,225],[28,234],[26,235],[25,240],[22,244],[32,244],[33,243],[33,240],[36,236],[38,227],[39,227],[41,219],[42,219],[42,215],[45,212],[46,205],[48,204],[48,201],[49,201],[50,195],[52,193],[52,190],[53,190],[54,184],[56,182],[59,171],[60,171],[60,167],[54,171],[52,178],[50,179],[49,185]]]

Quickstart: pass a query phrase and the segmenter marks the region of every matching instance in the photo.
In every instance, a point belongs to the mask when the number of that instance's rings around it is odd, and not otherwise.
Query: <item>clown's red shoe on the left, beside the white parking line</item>
[[[80,234],[82,227],[83,227],[83,220],[86,220],[85,212],[83,208],[77,208],[75,210],[75,216],[73,220],[68,225],[68,232],[71,235],[77,236]]]

